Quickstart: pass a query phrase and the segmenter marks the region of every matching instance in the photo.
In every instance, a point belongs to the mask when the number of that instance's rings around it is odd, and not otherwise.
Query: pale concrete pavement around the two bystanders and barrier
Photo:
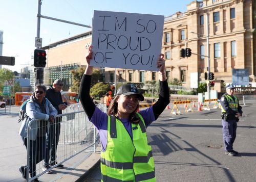
[[[9,107],[7,108],[9,109]],[[5,113],[0,110],[0,181],[26,181],[18,171],[19,166],[25,165],[27,150],[18,135],[21,123],[17,123],[19,107],[12,106]],[[97,148],[96,150],[99,150]],[[89,171],[99,161],[99,153],[81,152],[74,158],[63,163],[63,169],[54,169],[52,174],[43,174],[39,181],[76,181]]]

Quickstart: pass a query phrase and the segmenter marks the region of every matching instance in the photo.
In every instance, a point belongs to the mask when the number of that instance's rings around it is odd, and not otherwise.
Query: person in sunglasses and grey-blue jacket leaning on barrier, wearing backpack
[[[22,137],[26,149],[29,150],[29,173],[31,177],[36,175],[36,164],[45,159],[47,121],[53,122],[57,116],[57,110],[45,98],[45,95],[46,87],[44,85],[35,86],[35,92],[31,95],[30,101],[26,105],[27,117],[23,120],[19,129],[19,135]],[[29,127],[32,119],[38,120],[31,123]],[[27,139],[28,129],[30,129],[29,141]],[[26,179],[27,165],[20,166],[19,171],[22,173],[23,178]],[[35,178],[33,181],[38,181],[38,179]]]

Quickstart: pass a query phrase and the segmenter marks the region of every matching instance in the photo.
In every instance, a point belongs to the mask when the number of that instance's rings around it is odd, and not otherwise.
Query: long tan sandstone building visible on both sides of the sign
[[[170,82],[176,78],[189,88],[190,74],[197,73],[198,81],[204,82],[204,72],[207,72],[209,66],[217,80],[231,82],[232,68],[246,68],[249,81],[255,82],[255,28],[256,10],[253,0],[193,1],[187,5],[186,12],[165,17],[162,53],[166,60],[167,80]],[[45,70],[70,64],[85,66],[84,56],[91,44],[91,34],[87,32],[43,47],[48,52]],[[192,50],[191,57],[180,56],[180,49],[185,47]],[[114,83],[114,68],[99,69],[105,82]],[[58,73],[55,77],[60,76],[59,68],[54,72]],[[116,74],[117,82],[158,80],[158,74],[154,71],[117,68]],[[53,74],[45,73],[46,85],[51,85],[53,80]],[[72,84],[72,78],[67,82]]]

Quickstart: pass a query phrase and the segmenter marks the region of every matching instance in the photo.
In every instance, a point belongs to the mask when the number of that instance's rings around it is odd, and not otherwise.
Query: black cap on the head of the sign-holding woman
[[[143,101],[144,97],[142,94],[139,93],[137,87],[134,84],[123,84],[122,86],[120,86],[117,90],[117,95],[132,95],[132,94],[136,94],[138,95],[138,99]]]

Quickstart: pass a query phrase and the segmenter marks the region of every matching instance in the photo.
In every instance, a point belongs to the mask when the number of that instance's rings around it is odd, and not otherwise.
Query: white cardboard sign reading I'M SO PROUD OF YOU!
[[[92,66],[158,71],[164,16],[94,11]]]

